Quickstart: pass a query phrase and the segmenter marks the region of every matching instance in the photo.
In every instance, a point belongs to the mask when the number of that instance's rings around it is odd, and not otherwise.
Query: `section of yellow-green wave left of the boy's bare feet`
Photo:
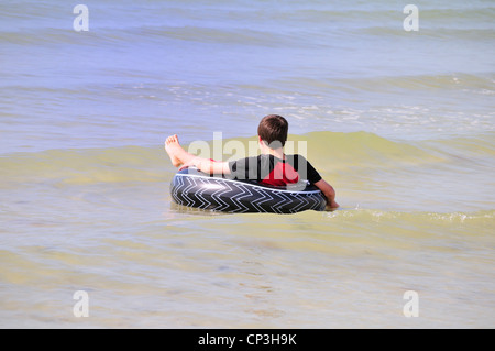
[[[0,158],[0,184],[160,182],[167,171],[165,157],[142,146],[20,152]]]

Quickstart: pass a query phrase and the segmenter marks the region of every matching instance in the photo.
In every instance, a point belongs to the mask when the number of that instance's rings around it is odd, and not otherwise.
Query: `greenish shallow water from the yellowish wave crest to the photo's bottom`
[[[328,166],[314,157],[341,209],[280,216],[185,208],[172,202],[174,169],[156,147],[2,157],[2,325],[493,323],[492,149],[466,157],[455,152],[466,150],[460,141],[413,145],[329,132],[292,140],[307,140],[309,155],[331,149],[326,141],[354,145]],[[479,179],[476,187],[465,188],[466,179]],[[90,297],[89,318],[73,315],[76,290]],[[406,290],[419,294],[414,320],[403,315]]]

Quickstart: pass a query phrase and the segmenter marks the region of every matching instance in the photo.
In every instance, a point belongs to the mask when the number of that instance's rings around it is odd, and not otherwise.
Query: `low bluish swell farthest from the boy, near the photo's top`
[[[45,46],[51,44],[68,44],[81,46],[121,45],[129,46],[131,43],[142,45],[152,43],[163,45],[164,40],[178,40],[186,42],[215,43],[226,45],[262,46],[262,47],[287,47],[297,46],[299,48],[329,47],[333,44],[329,42],[332,37],[355,37],[381,36],[386,40],[388,36],[404,36],[402,26],[374,25],[352,29],[336,29],[328,33],[320,34],[311,29],[299,31],[274,31],[254,30],[250,28],[208,28],[197,25],[186,26],[134,26],[124,29],[100,28],[91,29],[89,32],[75,32],[70,28],[37,28],[23,29],[20,31],[0,31],[0,42],[16,45]],[[451,29],[451,28],[421,28],[420,35],[426,39],[443,39],[455,41],[487,41],[495,37],[493,29]],[[308,40],[309,39],[309,40]]]

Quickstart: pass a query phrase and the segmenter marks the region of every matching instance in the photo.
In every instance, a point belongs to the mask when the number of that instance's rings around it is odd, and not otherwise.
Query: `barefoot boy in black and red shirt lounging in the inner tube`
[[[255,179],[262,184],[284,186],[307,179],[317,186],[327,198],[327,209],[339,207],[336,190],[328,184],[311,164],[301,155],[286,155],[284,145],[287,140],[288,123],[278,114],[265,116],[257,128],[261,155],[231,162],[217,162],[198,157],[180,146],[177,135],[168,136],[165,150],[172,164],[180,169],[195,166],[207,174],[221,174],[238,179]]]

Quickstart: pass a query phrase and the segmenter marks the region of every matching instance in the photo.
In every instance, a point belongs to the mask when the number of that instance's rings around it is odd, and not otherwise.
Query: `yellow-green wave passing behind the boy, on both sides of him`
[[[495,156],[493,135],[486,133],[477,138],[405,142],[369,132],[310,132],[289,135],[286,152],[307,154],[308,160],[323,173],[358,169],[365,173],[366,169],[399,169],[420,165],[435,167],[452,162],[474,163],[476,160],[486,165],[486,160]],[[218,149],[210,141],[206,145],[211,154],[202,155],[217,157],[220,151],[223,161],[243,156],[240,150],[231,150],[233,141],[238,142],[235,145],[245,147],[245,156],[257,153],[255,138],[239,138],[222,141]],[[185,145],[185,149],[193,143]],[[175,171],[161,146],[18,152],[0,157],[0,185],[168,182]]]

